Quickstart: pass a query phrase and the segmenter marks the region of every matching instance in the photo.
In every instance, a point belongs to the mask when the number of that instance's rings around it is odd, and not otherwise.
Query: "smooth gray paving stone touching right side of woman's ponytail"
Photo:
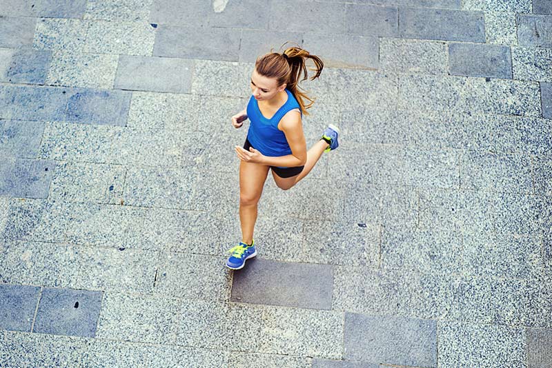
[[[324,66],[379,68],[377,37],[306,32],[303,38],[303,47],[311,54],[321,57]],[[348,54],[349,50],[358,50],[358,52]]]

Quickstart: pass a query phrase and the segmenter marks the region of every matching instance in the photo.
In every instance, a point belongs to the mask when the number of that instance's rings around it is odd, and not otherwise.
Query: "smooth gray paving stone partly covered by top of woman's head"
[[[303,44],[303,34],[299,32],[244,29],[239,43],[238,61],[255,63],[257,57],[270,52],[271,49],[274,52],[282,52],[282,45],[288,41],[290,43],[286,47],[295,44],[301,46]],[[315,52],[312,53],[315,54]]]

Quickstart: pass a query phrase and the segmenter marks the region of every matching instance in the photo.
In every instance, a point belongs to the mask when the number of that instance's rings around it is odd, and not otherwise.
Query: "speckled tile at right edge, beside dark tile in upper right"
[[[512,48],[512,61],[515,79],[552,82],[552,50]]]

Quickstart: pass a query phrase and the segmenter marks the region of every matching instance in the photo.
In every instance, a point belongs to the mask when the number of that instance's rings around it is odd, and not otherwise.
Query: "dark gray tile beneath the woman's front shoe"
[[[234,272],[230,300],[331,309],[332,285],[332,266],[253,258],[247,261],[244,269]]]

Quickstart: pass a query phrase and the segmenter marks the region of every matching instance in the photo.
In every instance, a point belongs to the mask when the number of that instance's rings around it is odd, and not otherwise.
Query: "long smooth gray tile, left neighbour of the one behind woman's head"
[[[235,28],[193,28],[159,25],[153,55],[237,61],[241,31]]]

